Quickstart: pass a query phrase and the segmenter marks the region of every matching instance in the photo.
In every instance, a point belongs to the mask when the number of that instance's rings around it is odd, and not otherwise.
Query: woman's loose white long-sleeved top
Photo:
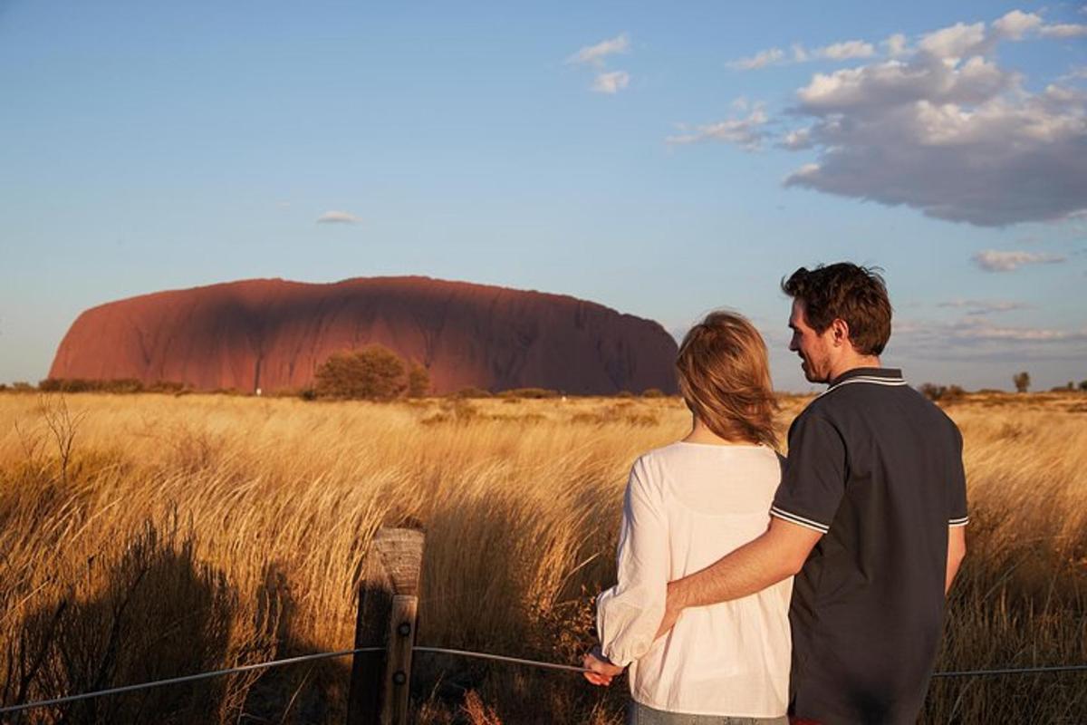
[[[678,442],[630,470],[619,584],[597,600],[603,653],[629,665],[637,702],[670,712],[777,717],[788,701],[792,578],[729,602],[687,609],[653,641],[667,583],[757,538],[780,480],[764,446]]]

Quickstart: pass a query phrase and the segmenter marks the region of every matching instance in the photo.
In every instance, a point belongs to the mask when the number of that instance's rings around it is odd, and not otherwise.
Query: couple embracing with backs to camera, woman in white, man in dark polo
[[[776,451],[766,348],[715,312],[679,348],[694,417],[639,458],[619,583],[600,595],[596,685],[628,668],[633,725],[916,722],[965,553],[962,437],[880,366],[879,275],[801,267],[789,349],[828,385]]]

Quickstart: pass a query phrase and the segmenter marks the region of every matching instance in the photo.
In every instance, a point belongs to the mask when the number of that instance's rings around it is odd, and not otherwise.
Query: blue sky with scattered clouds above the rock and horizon
[[[914,383],[1087,378],[1087,11],[0,0],[0,382],[84,309],[423,274],[682,333],[877,264]],[[318,221],[318,220],[339,221]]]

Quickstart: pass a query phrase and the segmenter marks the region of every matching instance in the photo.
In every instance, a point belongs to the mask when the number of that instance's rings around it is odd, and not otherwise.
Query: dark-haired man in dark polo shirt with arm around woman
[[[669,584],[659,634],[687,608],[795,574],[795,722],[912,725],[966,550],[962,437],[880,366],[891,308],[879,275],[850,263],[801,267],[782,288],[792,297],[789,349],[810,382],[829,387],[789,429],[767,530]]]

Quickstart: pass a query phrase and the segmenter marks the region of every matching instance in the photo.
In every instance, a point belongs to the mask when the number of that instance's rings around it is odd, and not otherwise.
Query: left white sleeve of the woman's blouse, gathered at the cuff
[[[623,500],[619,538],[619,584],[597,598],[601,650],[625,667],[649,651],[669,584],[669,530],[660,482],[642,459],[634,464]]]

